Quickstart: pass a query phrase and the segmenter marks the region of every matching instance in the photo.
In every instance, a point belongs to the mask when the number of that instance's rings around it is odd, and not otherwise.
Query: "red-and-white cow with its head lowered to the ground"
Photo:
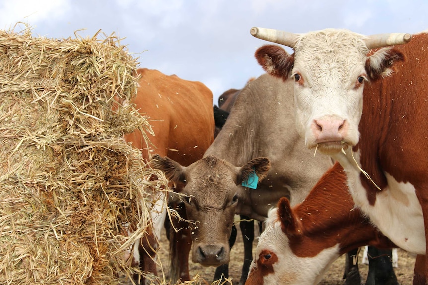
[[[301,204],[290,207],[288,199],[281,198],[265,224],[245,285],[314,285],[350,249],[367,244],[395,247],[354,207],[339,163],[321,177]],[[393,272],[387,273],[397,282]]]

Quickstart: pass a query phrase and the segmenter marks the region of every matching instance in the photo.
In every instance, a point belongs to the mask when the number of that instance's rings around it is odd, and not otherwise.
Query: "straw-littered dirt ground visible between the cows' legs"
[[[256,230],[258,230],[258,227],[255,226]],[[235,242],[235,245],[233,246],[231,250],[231,262],[229,264],[229,274],[232,279],[233,284],[238,284],[240,276],[241,276],[241,269],[242,269],[242,262],[244,257],[244,247],[242,243],[242,235],[238,229],[238,236]],[[254,241],[253,245],[253,255],[254,250],[257,245],[257,240]],[[161,247],[159,250],[159,257],[160,261],[162,262],[162,265],[164,267],[164,272],[168,273],[168,241],[166,239],[165,232],[162,234],[162,240],[161,240]],[[360,252],[359,256],[359,269],[361,274],[361,280],[363,284],[365,284],[365,279],[367,277],[368,272],[368,265],[361,264],[362,260],[362,250]],[[214,267],[203,267],[200,264],[190,263],[190,276],[193,277],[195,275],[199,275],[201,278],[205,279],[208,284],[210,284],[213,281],[215,268]],[[395,268],[395,274],[397,275],[398,282],[401,285],[411,285],[412,284],[412,278],[413,278],[413,266],[415,263],[415,258],[411,254],[407,253],[406,251],[402,249],[398,249],[398,268]],[[341,256],[338,258],[333,265],[330,267],[330,270],[326,273],[323,280],[319,283],[320,285],[342,285],[344,283],[342,276],[343,276],[343,270],[344,270],[344,264],[345,264],[345,256]]]

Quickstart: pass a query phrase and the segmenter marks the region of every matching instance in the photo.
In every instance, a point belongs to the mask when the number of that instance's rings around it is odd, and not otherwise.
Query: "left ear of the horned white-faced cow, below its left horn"
[[[294,66],[294,54],[288,54],[277,45],[265,45],[257,49],[255,53],[257,62],[267,73],[272,76],[287,80]]]

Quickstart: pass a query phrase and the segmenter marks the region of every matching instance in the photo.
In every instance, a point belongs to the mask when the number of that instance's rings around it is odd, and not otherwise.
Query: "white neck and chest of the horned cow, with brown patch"
[[[360,142],[357,151],[348,149],[346,154],[334,156],[347,173],[355,206],[397,246],[425,254],[424,221],[415,187],[385,171],[381,163],[385,158],[381,152],[376,156],[372,149],[376,149],[375,144],[365,148]]]

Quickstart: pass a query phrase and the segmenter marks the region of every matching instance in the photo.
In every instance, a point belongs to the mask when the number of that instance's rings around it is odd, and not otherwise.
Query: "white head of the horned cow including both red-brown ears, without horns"
[[[393,64],[404,60],[392,48],[367,56],[367,39],[327,29],[294,35],[293,55],[274,45],[257,50],[256,58],[268,73],[295,81],[296,125],[308,148],[334,154],[356,145],[364,83],[390,75]]]

